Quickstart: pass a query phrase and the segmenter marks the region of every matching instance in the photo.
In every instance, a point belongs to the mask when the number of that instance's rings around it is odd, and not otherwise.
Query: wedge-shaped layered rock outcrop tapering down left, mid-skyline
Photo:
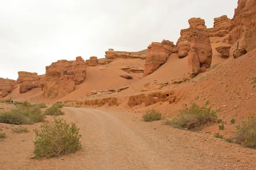
[[[143,76],[145,77],[157,70],[174,52],[177,52],[177,46],[171,41],[152,42],[148,46]]]

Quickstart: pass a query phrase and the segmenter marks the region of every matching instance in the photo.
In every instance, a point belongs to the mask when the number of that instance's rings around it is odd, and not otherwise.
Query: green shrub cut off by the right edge
[[[245,147],[256,148],[256,117],[249,117],[247,122],[236,126],[235,137],[236,143]]]

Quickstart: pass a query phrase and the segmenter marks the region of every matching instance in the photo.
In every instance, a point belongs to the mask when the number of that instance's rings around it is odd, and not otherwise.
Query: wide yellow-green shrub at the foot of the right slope
[[[167,120],[165,124],[172,125],[175,128],[201,130],[207,123],[215,122],[217,117],[215,111],[205,107],[200,108],[194,103],[190,108],[181,110],[176,118]]]

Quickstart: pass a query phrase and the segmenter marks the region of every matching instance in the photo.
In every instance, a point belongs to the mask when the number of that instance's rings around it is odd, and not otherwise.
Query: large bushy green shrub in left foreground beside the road
[[[81,135],[74,123],[67,124],[63,119],[54,118],[53,122],[43,124],[34,131],[35,157],[51,158],[81,149]]]

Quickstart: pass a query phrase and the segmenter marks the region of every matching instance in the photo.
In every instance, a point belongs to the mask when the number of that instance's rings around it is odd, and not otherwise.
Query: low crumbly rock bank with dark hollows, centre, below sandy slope
[[[132,108],[137,105],[145,103],[145,106],[153,105],[157,102],[166,102],[169,104],[177,103],[183,97],[183,93],[177,93],[175,91],[156,91],[148,94],[137,94],[130,96],[128,99],[128,105]]]

